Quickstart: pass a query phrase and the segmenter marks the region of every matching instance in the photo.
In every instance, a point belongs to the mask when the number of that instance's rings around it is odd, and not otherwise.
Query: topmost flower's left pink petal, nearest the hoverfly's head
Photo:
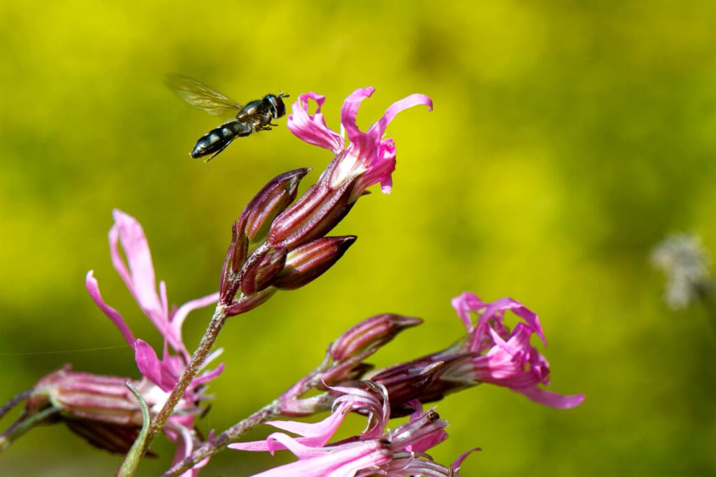
[[[309,115],[309,100],[316,102],[316,112]],[[306,141],[306,143],[319,146],[331,150],[334,154],[338,154],[344,146],[344,140],[341,135],[326,126],[321,114],[321,106],[325,102],[326,97],[318,95],[314,92],[305,93],[299,96],[299,99],[291,106],[292,114],[286,122],[291,133],[298,138]]]

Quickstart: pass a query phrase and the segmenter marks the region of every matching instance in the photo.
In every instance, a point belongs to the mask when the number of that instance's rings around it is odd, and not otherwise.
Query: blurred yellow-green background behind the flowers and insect
[[[191,160],[221,120],[166,90],[165,73],[239,101],[314,90],[335,129],[344,98],[372,85],[363,129],[412,92],[435,110],[388,128],[393,193],[362,198],[339,226],[359,236],[344,259],[228,323],[201,428],[269,402],[372,314],[425,318],[377,365],[444,347],[461,332],[450,298],[469,290],[538,312],[552,390],[586,402],[552,410],[488,385],[451,396],[437,461],[479,446],[463,476],[713,475],[716,329],[704,308],[669,311],[649,250],[692,231],[716,253],[714,5],[4,1],[0,401],[65,362],[137,376],[84,289],[89,269],[135,334],[160,343],[112,269],[112,208],[142,223],[181,304],[216,290],[231,221],[266,180],[309,166],[305,188],[331,158],[282,118]],[[188,343],[210,315],[190,316]],[[141,475],[167,468],[170,446],[158,450]],[[269,459],[226,452],[202,475],[247,476]],[[0,456],[0,473],[110,475],[119,462],[51,426]]]

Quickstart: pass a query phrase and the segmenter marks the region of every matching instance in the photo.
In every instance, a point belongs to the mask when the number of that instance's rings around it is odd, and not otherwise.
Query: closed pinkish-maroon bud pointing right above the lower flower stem
[[[342,362],[366,350],[375,352],[389,342],[403,329],[422,323],[420,318],[404,317],[400,314],[378,314],[364,319],[336,339],[329,353],[334,361]],[[372,353],[371,353],[372,354]]]

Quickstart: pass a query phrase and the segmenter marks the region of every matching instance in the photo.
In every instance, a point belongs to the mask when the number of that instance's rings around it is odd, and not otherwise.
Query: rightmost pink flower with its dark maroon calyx
[[[549,365],[530,344],[533,335],[546,343],[535,312],[511,298],[485,303],[471,293],[453,299],[453,307],[467,331],[463,339],[447,350],[362,378],[387,388],[393,417],[411,413],[412,400],[430,403],[480,382],[508,387],[552,408],[574,408],[584,401],[581,394],[561,395],[540,387],[549,384]],[[521,319],[512,330],[504,323],[507,311]],[[473,314],[478,315],[476,323]]]

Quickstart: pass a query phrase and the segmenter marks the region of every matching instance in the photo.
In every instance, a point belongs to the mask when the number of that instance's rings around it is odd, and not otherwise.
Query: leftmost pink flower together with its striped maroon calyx
[[[195,299],[170,311],[163,281],[157,292],[154,266],[142,226],[122,211],[115,210],[114,218],[115,225],[109,234],[112,264],[142,312],[164,338],[162,358],[150,344],[135,338],[122,314],[102,299],[97,279],[89,271],[85,279],[89,295],[134,350],[142,378],[131,380],[128,377],[74,372],[69,365],[65,365],[42,377],[35,385],[24,418],[57,410],[50,415],[49,421],[62,420],[74,433],[93,445],[110,452],[127,453],[142,426],[142,415],[140,404],[125,383],[129,382],[140,392],[151,415],[158,413],[190,357],[181,332],[185,318],[195,309],[216,303],[218,294]],[[122,258],[120,247],[126,261]],[[217,355],[218,352],[214,353],[205,364]],[[216,369],[195,377],[168,419],[164,432],[177,443],[175,462],[193,452],[198,440],[193,432],[194,420],[204,412],[199,404],[209,398],[205,394],[206,384],[222,371],[223,365],[218,365]]]

